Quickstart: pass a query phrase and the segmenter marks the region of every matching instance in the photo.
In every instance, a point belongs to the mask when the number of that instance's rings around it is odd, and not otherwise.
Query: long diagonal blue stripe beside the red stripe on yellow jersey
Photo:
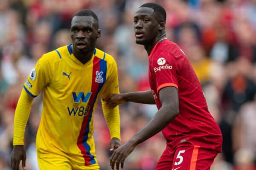
[[[102,71],[103,74],[102,74],[102,77],[103,77],[103,82],[102,83],[99,83],[99,87],[98,87],[98,90],[97,90],[97,93],[96,93],[96,96],[94,97],[93,99],[93,105],[91,107],[91,110],[90,110],[90,114],[89,114],[89,118],[88,118],[88,122],[87,122],[87,125],[86,125],[86,128],[85,128],[85,132],[84,132],[84,136],[83,138],[85,139],[83,142],[83,145],[84,145],[84,148],[87,150],[87,153],[90,155],[90,163],[91,164],[95,164],[96,161],[94,159],[94,156],[90,154],[90,146],[89,144],[87,144],[87,139],[88,139],[88,133],[89,133],[89,130],[90,130],[90,121],[92,119],[92,113],[93,113],[93,106],[96,102],[96,99],[97,99],[97,96],[99,94],[99,91],[101,90],[102,86],[104,85],[104,83],[106,82],[106,72],[107,72],[107,62],[103,59],[100,59],[100,63],[99,63],[99,71]]]

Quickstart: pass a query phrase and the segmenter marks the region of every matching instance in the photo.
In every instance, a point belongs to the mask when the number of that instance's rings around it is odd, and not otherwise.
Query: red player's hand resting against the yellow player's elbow
[[[109,94],[104,101],[107,102],[109,108],[113,109],[117,105],[124,104],[127,101],[123,98],[123,94]]]

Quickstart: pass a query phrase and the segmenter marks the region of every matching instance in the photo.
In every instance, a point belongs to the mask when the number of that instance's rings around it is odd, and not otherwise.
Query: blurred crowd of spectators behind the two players
[[[145,2],[167,12],[166,32],[192,63],[209,111],[223,134],[212,170],[256,170],[256,0],[0,0],[0,170],[10,170],[13,118],[23,83],[42,54],[71,43],[70,20],[82,8],[99,17],[97,48],[119,68],[120,92],[148,90],[148,57],[135,44],[133,15]],[[35,98],[25,133],[26,170],[38,170],[35,136],[42,97]],[[157,111],[155,105],[120,107],[122,143]],[[110,170],[109,132],[101,103],[94,113],[101,170]],[[49,148],[50,149],[50,148]],[[154,170],[165,149],[162,133],[140,144],[125,170]]]

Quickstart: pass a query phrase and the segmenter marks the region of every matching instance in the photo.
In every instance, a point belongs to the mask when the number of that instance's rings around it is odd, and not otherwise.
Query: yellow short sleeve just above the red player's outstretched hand
[[[118,73],[116,61],[113,59],[110,61],[107,70],[107,80],[102,91],[102,99],[108,94],[119,93]]]

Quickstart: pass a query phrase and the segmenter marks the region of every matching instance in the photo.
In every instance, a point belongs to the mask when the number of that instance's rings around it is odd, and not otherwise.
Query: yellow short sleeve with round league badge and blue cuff
[[[50,82],[52,70],[47,54],[44,54],[37,62],[29,74],[23,88],[26,92],[36,97],[41,90]]]

